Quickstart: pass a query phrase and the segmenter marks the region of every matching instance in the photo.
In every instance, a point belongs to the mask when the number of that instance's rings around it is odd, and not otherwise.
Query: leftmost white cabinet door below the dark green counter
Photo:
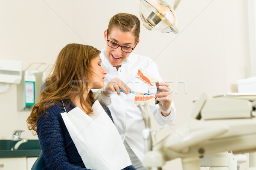
[[[26,170],[26,158],[0,158],[0,170]]]

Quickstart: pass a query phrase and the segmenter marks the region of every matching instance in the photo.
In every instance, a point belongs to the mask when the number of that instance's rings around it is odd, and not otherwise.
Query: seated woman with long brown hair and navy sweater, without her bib
[[[35,130],[38,134],[49,170],[89,170],[84,160],[88,158],[91,162],[99,161],[100,155],[95,156],[93,152],[89,152],[90,156],[87,158],[81,156],[81,152],[88,152],[88,150],[78,149],[69,127],[65,125],[66,122],[61,116],[64,112],[74,113],[73,111],[77,108],[88,117],[94,114],[92,106],[96,101],[93,99],[91,89],[103,88],[105,74],[107,74],[101,66],[99,54],[99,50],[89,45],[66,45],[58,54],[52,75],[45,81],[46,88],[41,92],[40,101],[33,106],[27,119],[29,130]],[[109,109],[103,104],[100,107],[108,114],[107,119],[110,118],[113,121]],[[112,122],[111,124],[113,125]],[[96,130],[95,134],[97,134]],[[116,133],[118,134],[117,131]],[[90,143],[96,142],[96,137],[86,136],[87,141],[88,138],[90,139]],[[105,144],[105,140],[97,142],[99,145]],[[87,146],[86,143],[84,145]],[[99,150],[97,147],[88,149]],[[119,153],[116,152],[116,154]],[[131,163],[127,164],[126,161],[126,165],[122,165],[124,167],[120,169],[135,170],[133,166],[128,165]]]

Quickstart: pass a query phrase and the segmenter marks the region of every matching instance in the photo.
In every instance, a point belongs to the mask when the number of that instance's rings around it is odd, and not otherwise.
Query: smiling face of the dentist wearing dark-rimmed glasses
[[[107,40],[107,30],[104,32],[104,37],[105,40]],[[123,32],[119,28],[113,28],[112,31],[108,33],[108,40],[120,45],[130,46],[132,48],[136,45],[135,36],[131,32]],[[120,65],[131,54],[122,51],[120,46],[118,48],[111,48],[108,46],[108,43],[106,43],[106,51],[108,61],[113,66]]]

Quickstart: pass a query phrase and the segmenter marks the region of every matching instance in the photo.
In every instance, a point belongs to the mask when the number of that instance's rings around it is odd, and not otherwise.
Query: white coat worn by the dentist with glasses
[[[137,55],[131,53],[128,59],[122,62],[121,67],[116,70],[106,57],[106,50],[102,50],[100,57],[102,59],[102,67],[108,71],[108,74],[105,75],[105,85],[118,77],[121,79],[132,91],[138,91],[141,93],[156,93],[156,87],[149,87],[140,79],[135,77],[139,68],[143,68],[149,74],[154,76],[159,82],[162,82],[157,69],[156,63],[145,56]],[[116,93],[116,92],[115,92]],[[142,136],[142,130],[145,129],[145,124],[142,119],[142,113],[140,109],[134,104],[135,94],[124,94],[121,93],[119,96],[117,94],[112,94],[110,97],[105,96],[96,92],[95,98],[99,101],[105,103],[111,111],[114,124],[122,137],[123,141],[125,140],[131,149],[134,151],[136,156],[143,161],[145,155],[145,146]],[[176,115],[176,109],[174,103],[171,104],[172,110],[169,116],[163,116],[159,110],[158,105],[150,106],[151,112],[154,115],[154,118],[160,125],[172,124],[173,119]]]

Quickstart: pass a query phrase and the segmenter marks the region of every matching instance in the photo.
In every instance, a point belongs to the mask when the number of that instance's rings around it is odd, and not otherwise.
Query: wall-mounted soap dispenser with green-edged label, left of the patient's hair
[[[39,64],[35,69],[31,69],[31,65]],[[38,73],[38,68],[46,63],[36,62],[31,63],[25,71],[22,71],[24,77],[21,79],[21,83],[17,85],[17,109],[18,111],[30,111],[32,106],[37,101],[37,95],[40,94],[40,88],[37,88],[38,82],[36,74]]]

